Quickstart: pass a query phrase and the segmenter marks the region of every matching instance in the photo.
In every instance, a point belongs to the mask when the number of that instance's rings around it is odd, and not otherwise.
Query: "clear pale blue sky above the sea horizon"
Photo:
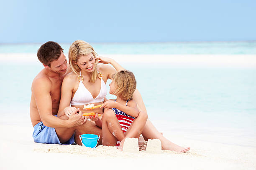
[[[5,0],[0,43],[256,40],[256,0]]]

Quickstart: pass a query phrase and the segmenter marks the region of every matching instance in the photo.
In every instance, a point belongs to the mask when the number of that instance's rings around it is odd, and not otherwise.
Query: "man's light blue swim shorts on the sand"
[[[69,145],[74,143],[74,134],[66,143],[60,143],[55,132],[55,128],[47,127],[43,122],[39,122],[34,126],[33,138],[36,143],[63,144]]]

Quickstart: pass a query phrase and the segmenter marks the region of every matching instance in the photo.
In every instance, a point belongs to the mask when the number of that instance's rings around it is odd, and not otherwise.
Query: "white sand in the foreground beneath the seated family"
[[[96,149],[78,145],[52,145],[34,143],[33,127],[25,125],[0,125],[0,169],[44,168],[136,168],[197,169],[197,170],[255,170],[256,148],[230,144],[191,140],[178,133],[164,134],[175,143],[190,146],[188,153],[163,150],[160,154],[128,153],[115,147],[99,146]],[[164,132],[165,133],[165,132]],[[172,136],[171,136],[172,135]]]

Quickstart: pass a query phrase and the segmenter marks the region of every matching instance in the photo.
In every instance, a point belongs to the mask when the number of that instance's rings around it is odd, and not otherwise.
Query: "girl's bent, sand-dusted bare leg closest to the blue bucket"
[[[105,110],[102,117],[102,144],[115,146],[117,140],[121,141],[124,137],[115,112],[111,109]]]

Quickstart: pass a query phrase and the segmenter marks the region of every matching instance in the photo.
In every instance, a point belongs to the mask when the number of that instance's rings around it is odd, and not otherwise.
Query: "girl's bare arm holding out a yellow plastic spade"
[[[119,102],[114,102],[112,100],[108,100],[105,103],[103,103],[102,107],[107,107],[109,109],[117,108],[119,110],[122,110],[127,115],[130,115],[132,117],[138,117],[139,110],[137,108],[137,104],[134,100],[130,100],[127,104],[127,106],[120,104]]]

